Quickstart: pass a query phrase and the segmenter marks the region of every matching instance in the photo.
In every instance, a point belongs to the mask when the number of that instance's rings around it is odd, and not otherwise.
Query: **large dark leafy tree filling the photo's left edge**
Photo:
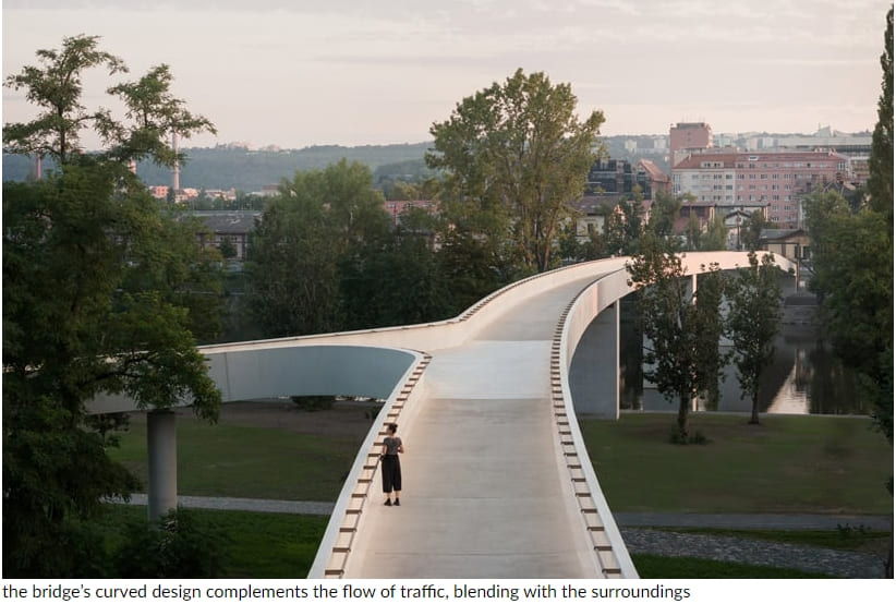
[[[216,297],[215,261],[125,165],[75,155],[98,118],[84,111],[81,74],[123,70],[96,44],[65,39],[38,51],[43,69],[5,81],[44,111],[4,126],[4,147],[56,157],[59,170],[3,185],[4,576],[101,572],[101,536],[85,522],[136,481],[107,452],[118,421],[86,413],[95,396],[124,394],[141,409],[187,400],[210,420],[220,402],[194,337],[215,327],[198,314]]]

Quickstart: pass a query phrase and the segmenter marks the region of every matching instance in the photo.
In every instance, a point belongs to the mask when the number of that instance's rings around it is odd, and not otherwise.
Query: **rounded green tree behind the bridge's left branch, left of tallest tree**
[[[341,329],[340,264],[382,246],[389,219],[370,169],[344,159],[280,183],[250,235],[249,305],[267,336]]]

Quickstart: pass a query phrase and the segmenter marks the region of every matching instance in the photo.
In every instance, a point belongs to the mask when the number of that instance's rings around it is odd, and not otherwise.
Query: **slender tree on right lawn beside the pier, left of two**
[[[717,387],[725,358],[718,341],[724,279],[718,266],[704,268],[691,292],[690,276],[674,246],[652,233],[642,237],[643,253],[626,265],[629,286],[638,290],[640,323],[646,341],[644,376],[669,401],[678,399],[679,442],[688,442],[691,401]],[[687,277],[687,278],[686,278]]]

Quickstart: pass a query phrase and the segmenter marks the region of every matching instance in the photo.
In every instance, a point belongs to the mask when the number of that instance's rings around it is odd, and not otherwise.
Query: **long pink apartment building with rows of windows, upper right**
[[[848,157],[833,152],[704,152],[690,154],[671,172],[673,194],[690,193],[719,206],[767,205],[767,217],[788,228],[802,225],[801,195],[851,179]]]

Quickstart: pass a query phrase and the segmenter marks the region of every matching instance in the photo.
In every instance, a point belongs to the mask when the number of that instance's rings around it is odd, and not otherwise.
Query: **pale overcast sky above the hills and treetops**
[[[458,101],[522,68],[569,83],[605,135],[872,130],[885,0],[4,0],[3,76],[63,37],[101,36],[131,69],[247,142],[428,141]],[[111,82],[86,82],[87,106]],[[27,120],[3,89],[3,121]],[[85,140],[85,145],[90,145]]]

